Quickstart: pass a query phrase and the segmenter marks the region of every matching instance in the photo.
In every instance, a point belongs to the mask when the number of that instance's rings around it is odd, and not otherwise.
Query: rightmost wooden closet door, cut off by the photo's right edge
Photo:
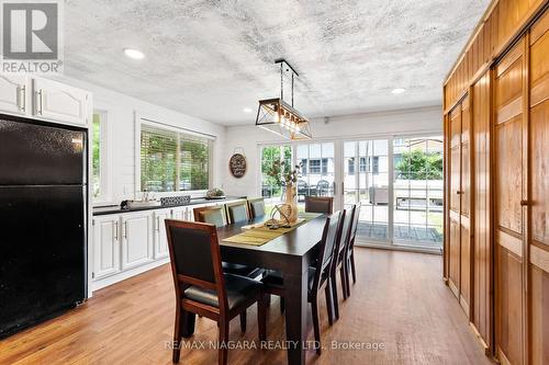
[[[530,33],[529,362],[549,364],[549,15]]]

